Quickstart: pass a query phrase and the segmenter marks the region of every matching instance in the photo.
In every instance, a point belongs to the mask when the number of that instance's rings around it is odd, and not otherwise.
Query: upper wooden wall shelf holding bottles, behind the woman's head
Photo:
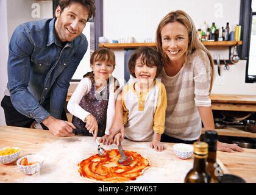
[[[241,45],[242,41],[202,41],[205,46],[235,46],[236,44]],[[131,49],[138,48],[141,46],[154,47],[155,43],[99,43],[99,48],[108,49]]]

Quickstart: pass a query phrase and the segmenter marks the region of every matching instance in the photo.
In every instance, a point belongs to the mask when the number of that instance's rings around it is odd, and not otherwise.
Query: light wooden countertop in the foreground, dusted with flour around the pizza
[[[96,154],[92,137],[54,137],[47,130],[0,126],[0,147],[21,147],[20,157],[41,154],[44,164],[36,176],[26,176],[15,163],[0,164],[0,182],[89,182],[79,176],[77,163]],[[173,152],[173,144],[165,143],[166,151],[156,152],[149,148],[149,142],[123,141],[125,150],[137,151],[151,161],[151,167],[134,182],[183,182],[185,174],[193,166],[193,158],[181,160]],[[115,145],[104,146],[116,149]],[[229,154],[218,152],[218,161],[225,173],[243,177],[246,182],[256,182],[256,150]]]

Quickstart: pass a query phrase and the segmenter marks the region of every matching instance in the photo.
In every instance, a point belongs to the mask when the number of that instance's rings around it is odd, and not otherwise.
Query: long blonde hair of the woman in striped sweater
[[[182,10],[176,10],[173,12],[169,12],[158,24],[157,27],[157,33],[156,33],[156,45],[157,50],[160,52],[160,55],[162,56],[162,60],[164,65],[167,65],[169,63],[169,57],[166,55],[166,53],[162,49],[162,36],[161,32],[163,27],[168,23],[174,23],[175,21],[179,22],[180,24],[183,24],[185,28],[188,30],[188,49],[186,53],[186,57],[193,54],[194,51],[197,51],[200,55],[200,57],[207,62],[207,60],[204,57],[204,54],[202,51],[206,52],[208,55],[208,58],[210,60],[210,66],[211,66],[211,84],[210,84],[210,91],[212,90],[213,85],[213,76],[214,76],[214,63],[213,58],[210,52],[205,48],[205,46],[201,43],[201,41],[198,40],[197,34],[196,34],[196,27],[194,26],[193,20],[190,18],[190,16],[183,12]]]

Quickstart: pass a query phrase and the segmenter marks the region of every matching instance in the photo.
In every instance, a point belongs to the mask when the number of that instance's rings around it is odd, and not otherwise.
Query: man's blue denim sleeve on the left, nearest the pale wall
[[[30,79],[30,55],[34,50],[32,38],[23,25],[13,32],[9,44],[8,88],[13,106],[18,112],[37,122],[49,116],[49,113],[39,104],[28,90]]]

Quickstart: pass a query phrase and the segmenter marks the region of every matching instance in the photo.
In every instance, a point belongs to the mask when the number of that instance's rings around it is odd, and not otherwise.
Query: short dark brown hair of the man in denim
[[[91,18],[91,16],[95,16],[95,5],[94,0],[60,0],[59,6],[61,12],[65,9],[65,7],[68,7],[69,5],[73,4],[74,2],[78,2],[81,5],[84,5],[89,10],[89,16],[88,19]]]

